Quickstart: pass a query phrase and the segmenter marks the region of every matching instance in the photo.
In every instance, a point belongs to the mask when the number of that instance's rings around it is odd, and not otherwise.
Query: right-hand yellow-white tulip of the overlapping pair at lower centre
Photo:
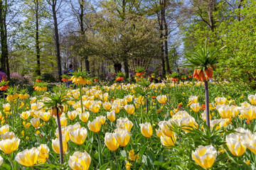
[[[122,147],[126,147],[126,145],[129,143],[129,140],[131,138],[131,135],[126,129],[116,129],[114,130],[114,136],[117,139],[117,142]]]

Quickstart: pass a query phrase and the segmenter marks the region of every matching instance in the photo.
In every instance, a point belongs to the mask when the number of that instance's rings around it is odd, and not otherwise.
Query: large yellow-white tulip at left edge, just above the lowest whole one
[[[0,149],[6,154],[11,154],[11,152],[16,151],[16,149],[18,149],[20,141],[21,140],[16,137],[12,138],[11,140],[1,140]]]

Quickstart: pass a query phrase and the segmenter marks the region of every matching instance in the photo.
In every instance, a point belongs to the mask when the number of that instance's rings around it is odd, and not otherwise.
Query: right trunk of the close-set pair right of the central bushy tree
[[[164,21],[164,54],[165,54],[165,62],[166,62],[166,70],[169,72],[169,58],[168,58],[168,25],[166,23],[166,0],[164,0],[164,8],[163,8],[163,21]]]

